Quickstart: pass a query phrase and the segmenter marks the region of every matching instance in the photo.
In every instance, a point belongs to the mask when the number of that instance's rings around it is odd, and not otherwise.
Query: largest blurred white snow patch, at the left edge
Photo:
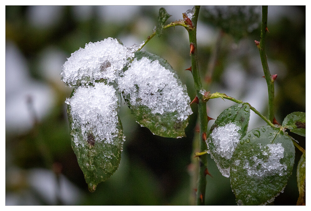
[[[5,59],[6,130],[21,134],[32,128],[34,117],[42,120],[49,112],[54,94],[48,86],[29,76],[24,57],[12,43],[6,43]]]

